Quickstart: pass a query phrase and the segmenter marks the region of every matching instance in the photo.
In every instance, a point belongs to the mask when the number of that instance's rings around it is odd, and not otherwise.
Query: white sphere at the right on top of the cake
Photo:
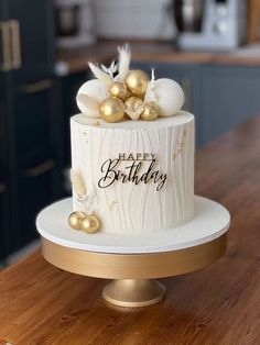
[[[153,91],[161,116],[175,115],[182,109],[184,92],[176,81],[167,78],[158,79]]]

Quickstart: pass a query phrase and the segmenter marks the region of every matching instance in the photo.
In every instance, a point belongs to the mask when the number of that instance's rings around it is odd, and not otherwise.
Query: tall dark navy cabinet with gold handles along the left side
[[[36,237],[36,213],[63,194],[53,19],[52,0],[0,0],[0,256]]]

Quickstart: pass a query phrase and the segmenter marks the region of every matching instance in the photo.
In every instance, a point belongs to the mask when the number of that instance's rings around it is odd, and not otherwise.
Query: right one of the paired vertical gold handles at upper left
[[[12,68],[19,69],[22,66],[21,59],[21,36],[20,24],[18,20],[10,20],[11,47],[12,47]]]

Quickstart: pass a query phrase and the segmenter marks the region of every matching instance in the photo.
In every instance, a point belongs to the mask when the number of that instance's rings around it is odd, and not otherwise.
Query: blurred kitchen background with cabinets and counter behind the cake
[[[35,216],[71,193],[69,118],[132,45],[132,67],[177,80],[197,147],[260,113],[259,0],[0,0],[0,263],[39,244]]]

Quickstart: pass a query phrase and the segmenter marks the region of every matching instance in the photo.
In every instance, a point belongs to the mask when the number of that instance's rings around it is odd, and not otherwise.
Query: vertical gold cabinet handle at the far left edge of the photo
[[[10,21],[0,22],[0,34],[2,36],[2,64],[0,65],[0,70],[9,71],[12,69]]]

